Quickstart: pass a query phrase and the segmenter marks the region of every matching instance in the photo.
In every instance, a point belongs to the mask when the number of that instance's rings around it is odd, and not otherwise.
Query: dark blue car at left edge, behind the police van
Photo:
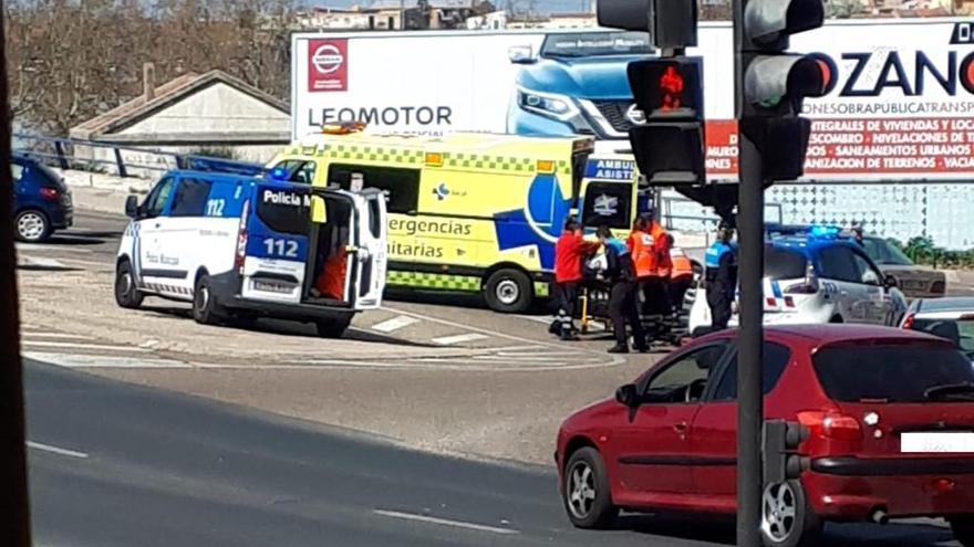
[[[19,241],[45,241],[74,221],[71,190],[60,175],[21,154],[10,158],[13,181],[13,233]]]

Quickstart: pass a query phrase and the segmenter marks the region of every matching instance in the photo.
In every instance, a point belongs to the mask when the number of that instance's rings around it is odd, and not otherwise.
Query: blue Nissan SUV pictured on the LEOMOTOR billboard
[[[633,103],[625,67],[652,52],[647,33],[620,31],[548,34],[537,56],[529,48],[511,48],[511,63],[522,66],[507,132],[626,139],[643,115]]]

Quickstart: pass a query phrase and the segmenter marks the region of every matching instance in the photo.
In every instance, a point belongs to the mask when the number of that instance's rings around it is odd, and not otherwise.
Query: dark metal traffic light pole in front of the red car
[[[734,0],[735,106],[738,120],[737,229],[740,328],[737,349],[737,546],[761,545],[761,328],[764,295],[764,185],[760,150],[752,130],[760,122],[744,118],[744,0]],[[757,127],[756,127],[757,126]]]

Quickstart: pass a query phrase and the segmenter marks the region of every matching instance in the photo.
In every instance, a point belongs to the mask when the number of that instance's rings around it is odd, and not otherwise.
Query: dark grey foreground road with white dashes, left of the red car
[[[546,469],[412,452],[35,362],[25,369],[39,546],[733,543],[732,526],[702,519],[626,517],[616,530],[576,530]],[[953,545],[931,525],[830,534],[830,546]]]

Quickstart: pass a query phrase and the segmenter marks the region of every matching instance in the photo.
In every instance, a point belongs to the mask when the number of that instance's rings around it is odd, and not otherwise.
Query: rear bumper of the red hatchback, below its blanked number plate
[[[974,459],[814,460],[801,476],[819,515],[864,520],[877,509],[890,517],[974,514]]]

